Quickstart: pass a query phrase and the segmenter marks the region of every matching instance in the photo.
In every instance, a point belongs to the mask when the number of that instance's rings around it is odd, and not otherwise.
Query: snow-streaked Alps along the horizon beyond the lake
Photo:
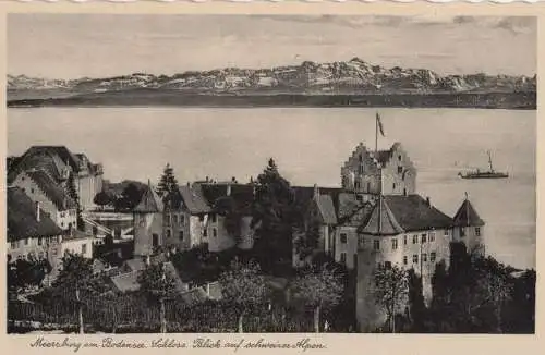
[[[440,75],[427,69],[384,68],[359,58],[302,62],[271,69],[226,68],[174,75],[46,79],[8,75],[8,100],[108,96],[110,93],[168,91],[187,95],[435,95],[535,93],[536,75]]]

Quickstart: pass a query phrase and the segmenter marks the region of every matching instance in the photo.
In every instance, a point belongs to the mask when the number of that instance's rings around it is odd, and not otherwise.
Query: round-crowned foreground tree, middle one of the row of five
[[[243,319],[264,303],[267,294],[265,278],[256,264],[231,262],[231,268],[219,278],[225,303],[234,310],[237,326],[243,332]]]

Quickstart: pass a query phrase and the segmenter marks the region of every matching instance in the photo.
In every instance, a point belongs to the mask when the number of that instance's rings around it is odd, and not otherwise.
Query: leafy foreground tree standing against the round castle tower
[[[407,271],[398,266],[380,265],[375,269],[375,302],[386,311],[391,332],[396,332],[396,316],[407,304],[409,283]]]

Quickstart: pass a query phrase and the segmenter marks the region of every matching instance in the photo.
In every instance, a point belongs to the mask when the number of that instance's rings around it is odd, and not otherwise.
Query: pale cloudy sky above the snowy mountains
[[[533,75],[536,17],[9,14],[8,73],[47,78],[348,61]]]

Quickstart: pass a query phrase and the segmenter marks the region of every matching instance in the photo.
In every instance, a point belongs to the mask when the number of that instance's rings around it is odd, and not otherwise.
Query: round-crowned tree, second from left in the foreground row
[[[161,333],[167,332],[165,302],[175,295],[175,281],[165,262],[148,266],[138,277],[141,291],[160,306]]]

